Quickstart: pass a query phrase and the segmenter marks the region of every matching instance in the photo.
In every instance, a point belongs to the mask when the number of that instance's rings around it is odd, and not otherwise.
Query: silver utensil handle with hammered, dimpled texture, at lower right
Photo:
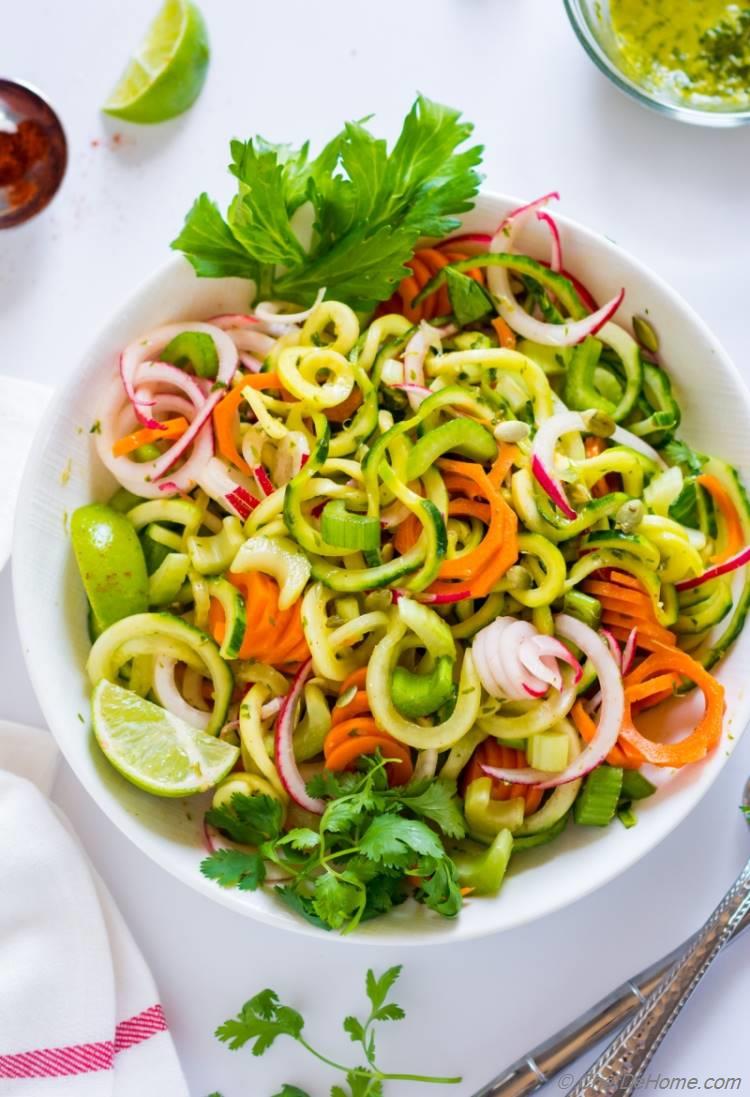
[[[568,1097],[630,1097],[680,1010],[750,911],[750,861],[684,955]]]

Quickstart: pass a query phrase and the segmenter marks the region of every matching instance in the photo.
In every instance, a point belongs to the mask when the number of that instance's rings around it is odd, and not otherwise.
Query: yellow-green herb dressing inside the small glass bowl
[[[750,102],[750,4],[610,0],[623,70],[652,91],[723,106]]]

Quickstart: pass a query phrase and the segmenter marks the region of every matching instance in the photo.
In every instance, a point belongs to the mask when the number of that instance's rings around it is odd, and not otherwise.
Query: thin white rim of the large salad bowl
[[[523,204],[521,199],[516,199],[513,195],[505,194],[501,191],[493,191],[490,189],[481,188],[477,194],[475,205],[473,210],[482,203],[488,203],[489,205],[498,205],[503,208],[510,205],[511,208]],[[470,216],[471,211],[469,211]],[[711,346],[716,351],[716,358],[720,361],[720,369],[729,374],[737,384],[739,392],[742,394],[742,403],[745,408],[745,415],[748,419],[748,425],[750,426],[750,389],[745,383],[742,375],[735,362],[732,361],[729,353],[724,348],[719,339],[712,332],[708,325],[703,320],[701,315],[690,305],[681,294],[679,294],[672,286],[669,285],[666,280],[663,280],[659,274],[655,273],[648,265],[637,259],[632,255],[626,248],[623,248],[620,244],[616,244],[610,237],[604,236],[602,233],[595,229],[589,228],[586,225],[580,224],[573,218],[567,217],[564,214],[556,214],[556,218],[559,224],[570,233],[573,233],[578,240],[582,244],[588,241],[595,241],[599,247],[605,247],[612,249],[613,251],[620,253],[628,263],[633,264],[639,273],[645,276],[650,284],[658,287],[659,292],[667,297],[672,305],[677,306],[679,309],[688,313],[691,318],[691,323],[696,330],[700,330],[704,338],[711,343]],[[458,229],[457,231],[461,231]],[[71,380],[77,380],[81,374],[81,362],[84,360],[89,348],[94,347],[109,331],[109,329],[115,324],[117,317],[121,314],[128,312],[133,304],[140,298],[149,289],[156,287],[161,280],[169,273],[170,270],[174,270],[181,267],[185,260],[180,256],[173,256],[166,262],[161,263],[158,268],[151,271],[151,273],[139,283],[130,294],[121,303],[117,310],[106,318],[102,325],[94,331],[93,336],[87,340],[86,347],[82,349],[81,354],[78,357],[78,365],[71,371],[71,375],[67,378],[66,384],[70,384]],[[39,422],[35,438],[39,440],[45,439],[50,432],[50,428],[56,419],[60,415],[60,409],[56,400],[50,400],[45,414]],[[19,499],[24,500],[31,498],[32,488],[39,476],[39,471],[43,462],[44,449],[43,445],[32,445],[31,456],[26,463],[24,470],[21,489],[19,493]],[[13,528],[13,553],[22,539],[22,530],[24,524],[24,514],[26,512],[26,507],[19,505],[15,511],[14,528]],[[95,784],[91,787],[91,782],[84,780],[80,768],[75,759],[68,756],[63,743],[55,734],[55,714],[56,709],[54,704],[46,700],[48,693],[45,691],[44,682],[44,668],[41,663],[37,663],[32,657],[32,637],[33,637],[33,626],[31,623],[31,615],[24,614],[22,612],[24,601],[26,599],[23,585],[21,581],[21,572],[18,568],[12,570],[12,585],[13,585],[13,603],[16,624],[19,629],[19,634],[21,637],[21,646],[23,651],[24,663],[32,681],[32,687],[36,699],[42,708],[45,720],[47,720],[48,728],[55,742],[57,743],[60,754],[66,759],[67,764],[70,766],[71,770],[76,774],[77,779],[80,781],[81,785],[86,792],[91,796],[96,806],[103,812],[107,819],[113,823],[117,829],[124,834],[139,850],[139,852],[147,856],[151,861],[157,863],[160,868],[164,869],[171,877],[180,880],[183,884],[192,887],[194,891],[206,896],[214,903],[219,903],[236,913],[250,918],[254,921],[259,921],[263,925],[271,926],[273,928],[285,929],[291,932],[297,932],[309,937],[315,937],[320,939],[321,930],[309,925],[302,918],[295,918],[291,920],[288,913],[284,909],[275,912],[273,909],[253,909],[243,903],[242,893],[229,889],[216,887],[209,880],[205,879],[200,872],[192,870],[185,871],[175,861],[173,861],[169,856],[163,856],[161,848],[158,847],[158,842],[146,842],[143,840],[143,832],[133,823],[130,813],[127,810],[122,810],[113,817],[113,813],[110,810],[110,802],[112,799],[111,793],[106,790],[103,784]],[[737,709],[732,714],[735,720],[735,726],[732,730],[734,742],[731,744],[732,748],[737,746],[742,733],[745,732],[748,720],[750,719],[750,690],[746,691],[737,700]],[[52,717],[52,719],[50,719]],[[600,887],[605,886],[611,883],[622,873],[626,872],[628,869],[633,868],[638,861],[652,852],[652,850],[659,846],[669,835],[681,824],[685,818],[694,811],[698,803],[706,795],[708,790],[713,787],[714,782],[718,778],[719,773],[723,772],[726,764],[729,761],[734,754],[734,749],[723,750],[721,758],[718,764],[713,768],[708,778],[704,778],[702,782],[695,782],[684,789],[681,793],[683,798],[682,807],[677,811],[673,817],[662,825],[652,837],[645,842],[641,848],[636,848],[634,846],[632,852],[626,856],[622,856],[620,859],[615,860],[614,864],[610,864],[603,869],[595,879],[587,879],[587,882],[581,886],[580,891],[577,891],[575,895],[557,895],[553,897],[544,906],[543,909],[532,912],[530,914],[520,914],[518,917],[505,921],[501,926],[487,926],[478,925],[473,926],[468,924],[467,920],[462,921],[461,918],[452,923],[452,928],[446,927],[445,932],[424,932],[419,928],[406,927],[394,927],[393,929],[386,929],[385,932],[378,931],[376,928],[378,923],[370,923],[362,931],[354,935],[342,936],[342,935],[327,935],[327,938],[334,939],[336,941],[345,942],[348,945],[355,946],[388,946],[388,947],[404,947],[404,946],[419,946],[419,947],[440,947],[456,943],[458,941],[465,940],[476,940],[482,937],[489,937],[495,934],[505,932],[507,930],[518,929],[521,926],[530,925],[533,921],[537,921],[541,918],[545,918],[552,914],[564,909],[567,906],[571,906],[586,898],[591,893],[598,891]]]

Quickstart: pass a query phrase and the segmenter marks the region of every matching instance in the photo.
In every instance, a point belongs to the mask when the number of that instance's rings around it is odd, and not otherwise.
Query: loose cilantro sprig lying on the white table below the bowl
[[[305,1020],[296,1009],[284,1005],[275,991],[261,991],[246,1002],[236,1017],[226,1020],[216,1029],[216,1037],[231,1051],[247,1045],[253,1055],[263,1055],[283,1036],[295,1040],[320,1062],[340,1071],[346,1079],[348,1088],[334,1085],[330,1097],[383,1097],[384,1082],[425,1082],[436,1085],[455,1085],[459,1077],[435,1077],[428,1074],[393,1073],[380,1070],[376,1062],[375,1026],[384,1021],[400,1021],[406,1014],[388,995],[401,973],[400,965],[389,968],[379,977],[371,970],[365,980],[365,991],[370,999],[370,1013],[364,1019],[345,1017],[343,1030],[362,1051],[366,1065],[346,1066],[329,1059],[307,1042],[304,1036]],[[214,1095],[218,1097],[218,1095]],[[304,1089],[286,1083],[275,1097],[309,1097]]]

